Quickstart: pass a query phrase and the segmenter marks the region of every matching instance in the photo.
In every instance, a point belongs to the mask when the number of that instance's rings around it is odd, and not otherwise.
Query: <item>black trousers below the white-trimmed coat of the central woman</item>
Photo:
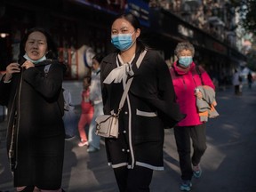
[[[120,167],[114,169],[120,192],[149,192],[153,170],[135,166],[133,169]]]

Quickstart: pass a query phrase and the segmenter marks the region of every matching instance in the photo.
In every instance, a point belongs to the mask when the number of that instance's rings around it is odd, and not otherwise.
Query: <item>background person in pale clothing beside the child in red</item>
[[[92,81],[90,86],[90,100],[92,100],[94,113],[92,122],[89,126],[89,148],[87,152],[92,153],[100,149],[100,136],[95,134],[97,116],[103,115],[103,103],[100,86],[100,62],[103,59],[103,54],[98,53],[92,58]]]

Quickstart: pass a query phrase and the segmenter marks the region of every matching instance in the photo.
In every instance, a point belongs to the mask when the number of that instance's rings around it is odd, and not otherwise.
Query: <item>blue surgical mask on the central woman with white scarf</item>
[[[132,46],[132,44],[135,42],[135,41],[132,42],[132,34],[112,35],[111,43],[114,44],[114,46],[121,51],[128,50]]]

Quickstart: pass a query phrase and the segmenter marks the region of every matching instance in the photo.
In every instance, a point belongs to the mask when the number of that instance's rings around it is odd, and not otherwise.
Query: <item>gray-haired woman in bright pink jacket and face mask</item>
[[[174,127],[174,136],[180,157],[181,184],[180,190],[189,191],[192,187],[191,179],[201,176],[199,166],[201,157],[206,149],[205,124],[200,122],[196,108],[196,97],[203,97],[201,92],[195,92],[196,87],[208,85],[215,89],[210,76],[204,68],[196,67],[193,62],[194,46],[188,42],[179,43],[175,48],[178,60],[170,68],[172,82],[180,105],[181,113],[187,116]],[[193,142],[191,157],[190,139]]]

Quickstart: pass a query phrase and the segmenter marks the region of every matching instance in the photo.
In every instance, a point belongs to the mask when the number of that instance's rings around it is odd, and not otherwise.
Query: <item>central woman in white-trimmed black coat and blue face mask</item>
[[[163,58],[139,40],[140,22],[131,13],[121,15],[111,27],[116,52],[101,62],[104,114],[118,112],[127,80],[133,76],[119,114],[117,139],[106,138],[108,164],[114,169],[120,192],[150,191],[153,170],[164,170],[164,127],[183,115],[175,105],[172,79]],[[137,60],[145,54],[140,67]]]

